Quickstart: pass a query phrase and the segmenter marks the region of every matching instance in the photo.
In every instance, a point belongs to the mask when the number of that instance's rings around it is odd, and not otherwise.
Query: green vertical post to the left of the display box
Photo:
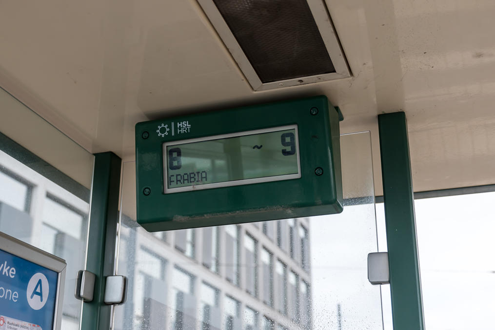
[[[103,303],[105,278],[113,275],[121,159],[95,154],[86,270],[96,274],[93,301],[84,302],[81,330],[108,330],[110,306]]]

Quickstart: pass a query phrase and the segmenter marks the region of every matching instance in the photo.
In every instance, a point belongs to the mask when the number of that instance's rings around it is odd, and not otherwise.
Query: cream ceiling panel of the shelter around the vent
[[[495,183],[495,2],[326,0],[353,77],[254,92],[196,0],[0,2],[0,84],[91,152],[134,125],[325,94],[345,133],[403,109],[416,191]]]

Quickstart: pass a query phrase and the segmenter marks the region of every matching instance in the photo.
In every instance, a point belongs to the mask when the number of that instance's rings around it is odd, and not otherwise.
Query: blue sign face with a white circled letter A
[[[0,250],[0,329],[52,330],[58,274]]]

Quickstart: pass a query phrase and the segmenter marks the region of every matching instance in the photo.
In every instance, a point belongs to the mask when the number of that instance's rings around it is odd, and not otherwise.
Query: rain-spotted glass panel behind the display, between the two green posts
[[[135,163],[125,163],[117,273],[133,293],[114,308],[112,329],[382,329],[380,287],[367,280],[367,255],[377,251],[370,135],[341,140],[342,214],[196,229],[195,259],[182,251],[186,232],[169,233],[166,243],[137,225]],[[217,270],[209,267],[215,245]],[[153,268],[136,262],[143,248],[174,274],[152,290],[137,280],[142,267]],[[137,300],[150,299],[159,308],[145,304],[139,313]]]

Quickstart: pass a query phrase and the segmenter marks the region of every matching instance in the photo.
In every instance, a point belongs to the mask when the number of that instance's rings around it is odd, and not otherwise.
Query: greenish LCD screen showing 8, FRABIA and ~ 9
[[[163,143],[164,192],[301,177],[297,125]]]

